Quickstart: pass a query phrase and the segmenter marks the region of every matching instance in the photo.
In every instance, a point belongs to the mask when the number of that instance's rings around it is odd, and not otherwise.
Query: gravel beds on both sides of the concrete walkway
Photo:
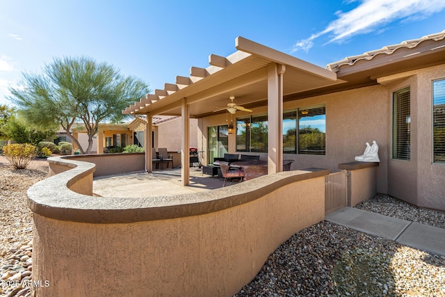
[[[357,208],[445,226],[443,212],[387,195]],[[445,296],[445,257],[323,221],[277,248],[235,296]]]

